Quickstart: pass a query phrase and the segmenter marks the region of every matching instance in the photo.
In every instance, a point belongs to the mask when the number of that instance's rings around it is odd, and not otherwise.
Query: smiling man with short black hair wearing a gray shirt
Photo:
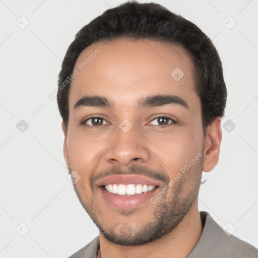
[[[107,10],[77,33],[58,84],[64,158],[100,230],[71,257],[258,257],[198,211],[227,91],[196,25],[153,3]]]

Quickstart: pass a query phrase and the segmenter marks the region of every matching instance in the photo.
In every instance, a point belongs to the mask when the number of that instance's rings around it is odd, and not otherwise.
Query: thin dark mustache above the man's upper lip
[[[124,166],[114,166],[109,168],[108,170],[100,171],[97,175],[92,175],[90,178],[90,186],[93,189],[95,182],[102,177],[106,177],[109,175],[129,175],[129,174],[136,174],[136,175],[143,175],[148,176],[153,179],[157,179],[159,181],[168,184],[170,182],[169,176],[162,170],[153,170],[141,165],[132,165],[130,167]]]

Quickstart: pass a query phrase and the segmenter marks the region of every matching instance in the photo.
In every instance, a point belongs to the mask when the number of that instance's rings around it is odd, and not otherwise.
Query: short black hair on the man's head
[[[227,89],[221,59],[211,39],[195,24],[161,5],[133,1],[106,10],[84,26],[69,46],[59,73],[57,91],[58,108],[66,128],[69,121],[70,89],[67,78],[73,73],[78,56],[94,42],[121,38],[151,39],[183,46],[191,56],[195,70],[204,133],[216,117],[224,116]]]

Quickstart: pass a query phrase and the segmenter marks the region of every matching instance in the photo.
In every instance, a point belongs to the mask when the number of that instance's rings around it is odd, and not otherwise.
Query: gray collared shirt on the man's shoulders
[[[235,237],[226,234],[208,212],[200,212],[203,223],[202,235],[187,258],[257,258],[258,250]],[[97,258],[99,237],[69,258]]]

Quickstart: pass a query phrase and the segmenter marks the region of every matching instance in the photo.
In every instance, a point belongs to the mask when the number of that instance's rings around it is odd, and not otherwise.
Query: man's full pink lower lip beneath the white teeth
[[[154,195],[158,188],[159,187],[155,187],[151,191],[139,193],[134,196],[119,196],[104,190],[102,187],[100,187],[99,189],[102,195],[104,196],[104,199],[113,207],[118,209],[129,210],[138,208],[146,202],[150,202],[151,197]]]

